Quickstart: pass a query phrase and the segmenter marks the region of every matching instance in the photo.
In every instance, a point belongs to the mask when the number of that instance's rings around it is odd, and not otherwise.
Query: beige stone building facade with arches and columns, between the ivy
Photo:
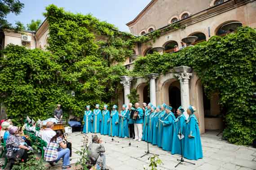
[[[199,43],[214,35],[225,35],[227,32],[223,30],[223,26],[226,25],[231,28],[239,24],[256,28],[255,16],[256,0],[151,0],[127,26],[134,35],[147,36],[154,30],[161,30],[161,36],[155,42],[151,41],[151,44],[137,44],[134,55],[128,57],[124,65],[132,69],[133,61],[138,56],[144,57],[153,51],[172,52],[174,45],[180,46],[181,39],[187,36],[198,37],[195,43]],[[172,29],[174,24],[179,28]],[[22,39],[24,35],[28,40]],[[13,43],[30,49],[45,50],[48,38],[49,24],[45,20],[36,32],[1,32],[0,47]],[[122,76],[120,79],[124,89],[117,92],[119,109],[122,104],[129,103],[127,95],[132,89],[136,89],[141,104],[166,103],[175,109],[179,105],[194,105],[201,133],[205,129],[222,129],[223,113],[218,105],[218,94],[212,94],[207,99],[199,77],[191,68],[180,66],[166,74],[152,72],[144,77]]]

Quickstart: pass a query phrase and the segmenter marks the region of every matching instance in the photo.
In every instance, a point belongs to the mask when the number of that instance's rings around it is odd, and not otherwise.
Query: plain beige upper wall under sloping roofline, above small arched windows
[[[148,32],[150,27],[159,29],[167,26],[172,17],[181,19],[184,12],[190,15],[207,9],[212,0],[157,0],[157,2],[133,25],[130,31],[140,35],[142,30]]]

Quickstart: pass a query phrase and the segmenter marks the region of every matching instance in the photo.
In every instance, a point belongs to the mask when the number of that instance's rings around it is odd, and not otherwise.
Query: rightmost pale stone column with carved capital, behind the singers
[[[191,68],[186,66],[180,66],[174,68],[177,72],[175,76],[178,77],[181,84],[181,106],[186,110],[190,105],[190,89],[189,89],[189,79],[192,75]]]

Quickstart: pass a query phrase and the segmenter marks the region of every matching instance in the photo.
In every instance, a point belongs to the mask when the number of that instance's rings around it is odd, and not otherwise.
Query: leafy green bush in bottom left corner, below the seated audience
[[[36,157],[36,153],[39,153],[40,150],[33,146],[33,151],[28,151],[30,154],[27,161],[17,163],[13,166],[12,170],[46,170],[44,165],[44,160],[41,157]]]

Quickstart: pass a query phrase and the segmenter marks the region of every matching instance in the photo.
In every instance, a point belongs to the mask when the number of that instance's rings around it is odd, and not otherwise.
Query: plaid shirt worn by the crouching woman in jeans
[[[47,147],[44,151],[44,161],[55,161],[58,157],[58,148],[60,146],[60,143],[62,143],[62,138],[57,137],[56,141],[49,142],[47,144]]]

